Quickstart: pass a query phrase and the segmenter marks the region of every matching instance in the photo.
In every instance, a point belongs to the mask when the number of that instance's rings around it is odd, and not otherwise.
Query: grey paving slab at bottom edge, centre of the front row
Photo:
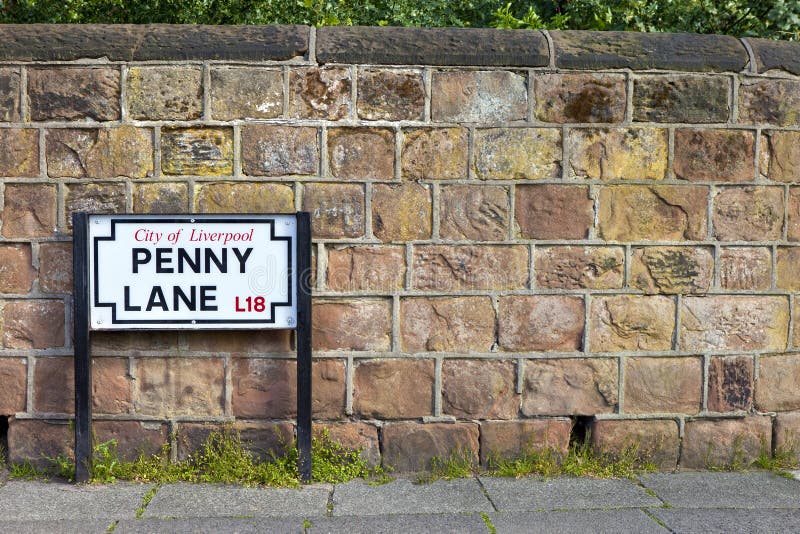
[[[478,514],[420,514],[312,519],[309,533],[394,534],[396,532],[458,532],[486,534]]]

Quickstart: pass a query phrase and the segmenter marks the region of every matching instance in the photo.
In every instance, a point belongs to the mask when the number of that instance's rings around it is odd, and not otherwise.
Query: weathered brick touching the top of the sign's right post
[[[364,187],[357,184],[307,184],[303,211],[311,212],[316,238],[364,235]]]

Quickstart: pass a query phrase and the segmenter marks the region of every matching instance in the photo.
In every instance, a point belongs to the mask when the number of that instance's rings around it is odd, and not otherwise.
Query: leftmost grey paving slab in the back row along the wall
[[[16,520],[133,518],[152,485],[9,481],[0,487],[0,517]]]

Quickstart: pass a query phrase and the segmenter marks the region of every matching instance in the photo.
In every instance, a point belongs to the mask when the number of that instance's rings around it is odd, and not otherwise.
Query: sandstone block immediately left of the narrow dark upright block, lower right
[[[703,396],[701,358],[627,358],[625,413],[700,411]]]

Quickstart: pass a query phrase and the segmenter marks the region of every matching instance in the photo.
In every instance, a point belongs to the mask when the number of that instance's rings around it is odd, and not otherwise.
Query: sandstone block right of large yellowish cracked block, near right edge
[[[721,241],[780,239],[783,231],[783,189],[731,187],[714,198],[714,235]]]

